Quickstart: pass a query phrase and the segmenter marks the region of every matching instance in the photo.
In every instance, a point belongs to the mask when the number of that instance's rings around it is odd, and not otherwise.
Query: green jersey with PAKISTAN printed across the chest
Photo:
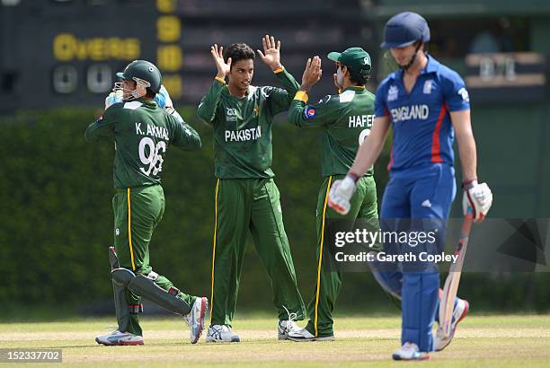
[[[249,86],[242,98],[232,96],[216,78],[197,111],[214,127],[214,161],[220,179],[272,178],[271,126],[273,117],[288,110],[299,84],[286,70],[275,75],[284,90]]]

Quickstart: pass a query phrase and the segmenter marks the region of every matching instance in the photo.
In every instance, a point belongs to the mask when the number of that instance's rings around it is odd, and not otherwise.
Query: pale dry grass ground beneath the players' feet
[[[277,341],[276,321],[239,316],[240,344],[189,343],[177,318],[143,319],[145,346],[98,346],[95,335],[109,332],[114,319],[44,323],[1,323],[0,347],[61,348],[63,365],[87,367],[172,366],[377,366],[422,364],[437,367],[548,367],[550,315],[472,316],[461,323],[448,348],[430,361],[392,362],[399,345],[398,317],[342,317],[335,342]],[[23,364],[21,364],[23,365]],[[17,366],[21,366],[18,364]],[[32,367],[52,364],[27,364]]]

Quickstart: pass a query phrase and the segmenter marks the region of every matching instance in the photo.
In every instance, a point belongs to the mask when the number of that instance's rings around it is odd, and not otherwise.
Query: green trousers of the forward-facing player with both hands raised
[[[303,320],[294,263],[273,179],[218,179],[212,251],[210,325],[231,327],[248,232],[271,281],[279,320]]]

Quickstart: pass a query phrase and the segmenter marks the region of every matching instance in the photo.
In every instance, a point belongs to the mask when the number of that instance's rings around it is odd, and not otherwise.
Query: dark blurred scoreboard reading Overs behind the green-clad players
[[[360,4],[340,0],[0,0],[0,113],[101,107],[115,73],[134,59],[154,63],[176,103],[197,104],[216,74],[214,43],[262,48],[282,42],[283,65],[297,79],[308,57],[352,46],[376,59],[374,27]],[[338,11],[336,11],[338,10]],[[305,21],[306,14],[306,21]],[[326,22],[332,19],[333,22]],[[334,93],[335,66],[315,93]],[[255,85],[272,85],[256,58]],[[371,88],[372,89],[372,88]],[[314,96],[312,96],[314,97]]]

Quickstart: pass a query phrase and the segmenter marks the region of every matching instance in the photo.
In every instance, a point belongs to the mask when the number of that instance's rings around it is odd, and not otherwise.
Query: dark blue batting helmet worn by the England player
[[[403,48],[420,40],[430,41],[428,22],[418,13],[404,12],[394,15],[384,27],[382,48]]]

